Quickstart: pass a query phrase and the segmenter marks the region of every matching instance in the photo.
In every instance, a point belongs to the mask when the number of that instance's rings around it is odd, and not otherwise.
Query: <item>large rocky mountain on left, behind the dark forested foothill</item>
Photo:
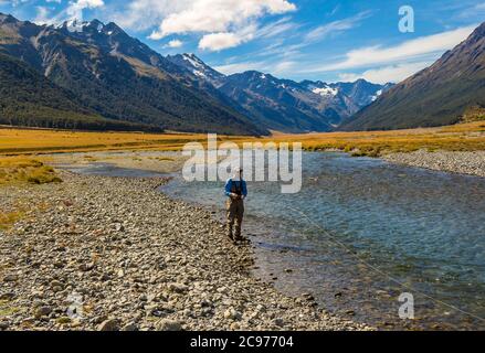
[[[264,129],[114,23],[38,26],[0,15],[0,51],[45,75],[103,117],[166,129],[259,135]]]

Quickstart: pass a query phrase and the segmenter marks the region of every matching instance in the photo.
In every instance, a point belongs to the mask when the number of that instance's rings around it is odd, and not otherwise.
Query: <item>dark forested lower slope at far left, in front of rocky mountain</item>
[[[68,90],[29,67],[0,54],[0,124],[12,126],[161,131],[152,126],[104,119],[83,107]]]

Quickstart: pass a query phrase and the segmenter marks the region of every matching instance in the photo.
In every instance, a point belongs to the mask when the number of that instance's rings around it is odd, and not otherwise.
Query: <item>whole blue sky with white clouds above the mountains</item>
[[[399,31],[399,9],[414,32]],[[0,11],[54,23],[116,22],[161,54],[196,53],[230,74],[399,82],[432,64],[485,20],[478,0],[0,0]]]

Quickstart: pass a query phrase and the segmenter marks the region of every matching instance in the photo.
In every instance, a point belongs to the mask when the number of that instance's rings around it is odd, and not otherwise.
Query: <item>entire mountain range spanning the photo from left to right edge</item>
[[[484,53],[485,23],[398,85],[295,82],[162,56],[113,22],[0,13],[0,124],[252,136],[446,125],[485,107]]]

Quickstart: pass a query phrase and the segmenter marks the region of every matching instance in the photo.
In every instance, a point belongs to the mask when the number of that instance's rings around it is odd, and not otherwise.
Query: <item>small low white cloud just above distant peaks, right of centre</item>
[[[340,74],[339,79],[345,82],[355,82],[359,78],[367,79],[376,84],[387,84],[389,82],[399,83],[417,72],[430,66],[432,62],[418,62],[409,64],[389,65],[365,71],[360,74]]]

